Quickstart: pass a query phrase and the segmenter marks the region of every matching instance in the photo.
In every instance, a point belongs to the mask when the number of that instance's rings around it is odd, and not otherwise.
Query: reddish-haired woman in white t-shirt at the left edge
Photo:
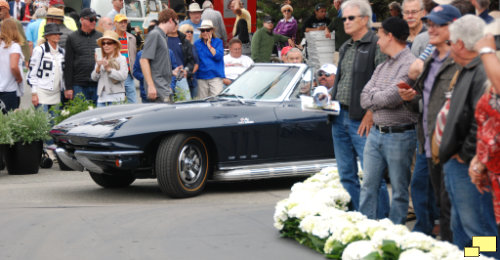
[[[21,51],[24,40],[14,18],[3,20],[0,32],[0,61],[3,63],[0,66],[0,100],[9,111],[19,107],[20,97],[24,93],[24,56]]]

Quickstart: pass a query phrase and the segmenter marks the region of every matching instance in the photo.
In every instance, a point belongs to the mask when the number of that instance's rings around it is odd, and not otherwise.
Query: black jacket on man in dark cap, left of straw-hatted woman
[[[99,47],[97,39],[101,36],[102,33],[96,30],[85,33],[81,29],[68,36],[64,56],[64,83],[67,90],[72,90],[73,86],[97,86],[90,74],[95,67],[95,48]]]

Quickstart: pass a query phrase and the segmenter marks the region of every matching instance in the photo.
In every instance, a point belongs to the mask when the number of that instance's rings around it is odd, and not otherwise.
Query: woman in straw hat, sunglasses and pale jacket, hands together
[[[120,54],[121,43],[114,31],[105,31],[97,40],[102,57],[96,53],[92,80],[97,81],[97,106],[105,107],[125,101],[125,80],[128,76],[127,59]]]

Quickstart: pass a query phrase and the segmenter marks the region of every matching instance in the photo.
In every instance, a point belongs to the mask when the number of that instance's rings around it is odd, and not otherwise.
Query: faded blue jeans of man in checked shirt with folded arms
[[[372,127],[365,145],[363,186],[359,211],[368,218],[377,218],[377,197],[385,169],[389,170],[392,186],[389,219],[394,224],[404,224],[408,215],[411,163],[417,143],[415,129],[402,133],[381,133]]]

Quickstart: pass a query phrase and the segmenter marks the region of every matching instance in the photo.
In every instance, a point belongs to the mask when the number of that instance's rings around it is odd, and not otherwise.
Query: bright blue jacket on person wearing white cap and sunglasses
[[[226,77],[224,73],[224,46],[222,40],[212,38],[211,45],[215,48],[215,55],[212,55],[203,39],[199,39],[194,43],[200,61],[200,67],[196,72],[197,79]]]

